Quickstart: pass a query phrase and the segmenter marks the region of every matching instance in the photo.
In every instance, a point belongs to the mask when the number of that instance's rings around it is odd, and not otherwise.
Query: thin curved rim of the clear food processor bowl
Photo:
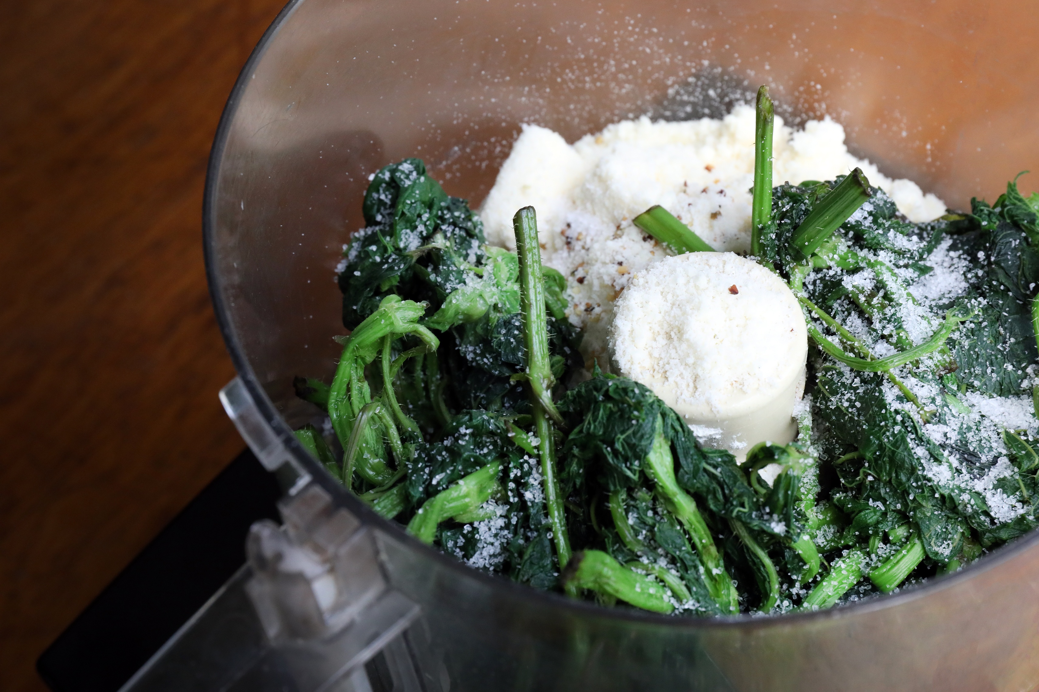
[[[277,17],[267,27],[257,46],[252,49],[235,81],[231,94],[228,96],[228,102],[224,105],[219,123],[217,124],[216,134],[213,138],[213,145],[207,164],[206,184],[203,195],[202,240],[203,254],[206,262],[206,277],[209,284],[210,299],[213,303],[213,311],[216,314],[220,334],[223,336],[228,354],[231,357],[239,379],[252,397],[265,422],[276,435],[282,444],[285,445],[293,460],[311,475],[313,482],[318,483],[328,492],[337,506],[352,513],[366,525],[389,534],[394,541],[406,546],[409,550],[419,552],[423,557],[437,562],[448,574],[457,575],[462,579],[475,580],[484,587],[500,592],[503,597],[526,602],[538,608],[561,608],[581,617],[629,621],[656,628],[689,631],[718,628],[752,630],[789,627],[808,621],[823,622],[828,619],[848,618],[897,608],[901,605],[925,599],[960,585],[975,577],[980,577],[983,573],[998,569],[1003,563],[1015,559],[1021,553],[1033,550],[1039,545],[1039,530],[1033,530],[1025,535],[1015,538],[1011,543],[1001,546],[989,555],[954,574],[934,577],[922,584],[913,584],[899,589],[894,593],[867,598],[854,603],[823,610],[811,612],[791,611],[771,615],[741,613],[738,615],[715,617],[693,617],[660,615],[635,608],[604,608],[587,601],[569,599],[560,593],[540,591],[513,582],[505,577],[489,575],[465,565],[432,546],[427,546],[404,531],[404,528],[399,523],[383,519],[375,514],[368,505],[359,501],[352,493],[348,492],[339,481],[332,478],[324,467],[313,459],[302,445],[299,444],[289,424],[281,416],[277,408],[260,384],[256,372],[244,355],[241,342],[234,329],[234,323],[231,320],[230,310],[223,300],[223,286],[217,272],[217,253],[213,243],[217,226],[217,185],[232,123],[241,105],[242,96],[251,80],[254,70],[263,59],[278,31],[303,2],[304,0],[289,0],[288,4],[282,8]]]

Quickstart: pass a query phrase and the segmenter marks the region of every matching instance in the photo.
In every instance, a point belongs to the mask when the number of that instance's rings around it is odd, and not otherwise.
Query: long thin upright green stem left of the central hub
[[[552,524],[559,569],[570,560],[570,541],[566,530],[563,497],[556,479],[556,449],[551,417],[562,425],[563,419],[552,400],[555,378],[549,358],[549,326],[544,316],[544,284],[541,279],[541,249],[537,239],[537,218],[533,206],[525,206],[512,217],[520,257],[520,310],[523,315],[524,341],[527,347],[527,383],[531,391],[534,434],[537,435],[544,504]]]

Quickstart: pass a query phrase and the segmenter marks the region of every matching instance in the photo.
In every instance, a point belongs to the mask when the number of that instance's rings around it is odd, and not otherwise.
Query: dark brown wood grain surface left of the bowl
[[[0,21],[0,689],[242,447],[202,193],[283,0],[37,0]]]

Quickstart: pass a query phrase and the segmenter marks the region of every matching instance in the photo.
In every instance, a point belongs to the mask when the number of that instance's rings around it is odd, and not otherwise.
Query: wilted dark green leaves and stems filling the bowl
[[[535,211],[516,213],[516,253],[489,247],[408,159],[368,189],[335,378],[295,381],[326,427],[300,443],[474,568],[659,613],[825,608],[1031,530],[1039,195],[1010,183],[914,224],[858,169],[773,188],[771,133],[763,88],[753,255],[814,344],[795,442],[738,464],[647,387],[586,372]],[[710,249],[662,209],[640,219],[676,252]]]

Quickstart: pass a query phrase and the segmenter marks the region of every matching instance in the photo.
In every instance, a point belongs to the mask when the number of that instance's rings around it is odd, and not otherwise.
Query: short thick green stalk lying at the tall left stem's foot
[[[609,593],[643,610],[665,614],[674,610],[667,601],[667,587],[598,550],[577,553],[561,579],[572,589],[590,588]]]

